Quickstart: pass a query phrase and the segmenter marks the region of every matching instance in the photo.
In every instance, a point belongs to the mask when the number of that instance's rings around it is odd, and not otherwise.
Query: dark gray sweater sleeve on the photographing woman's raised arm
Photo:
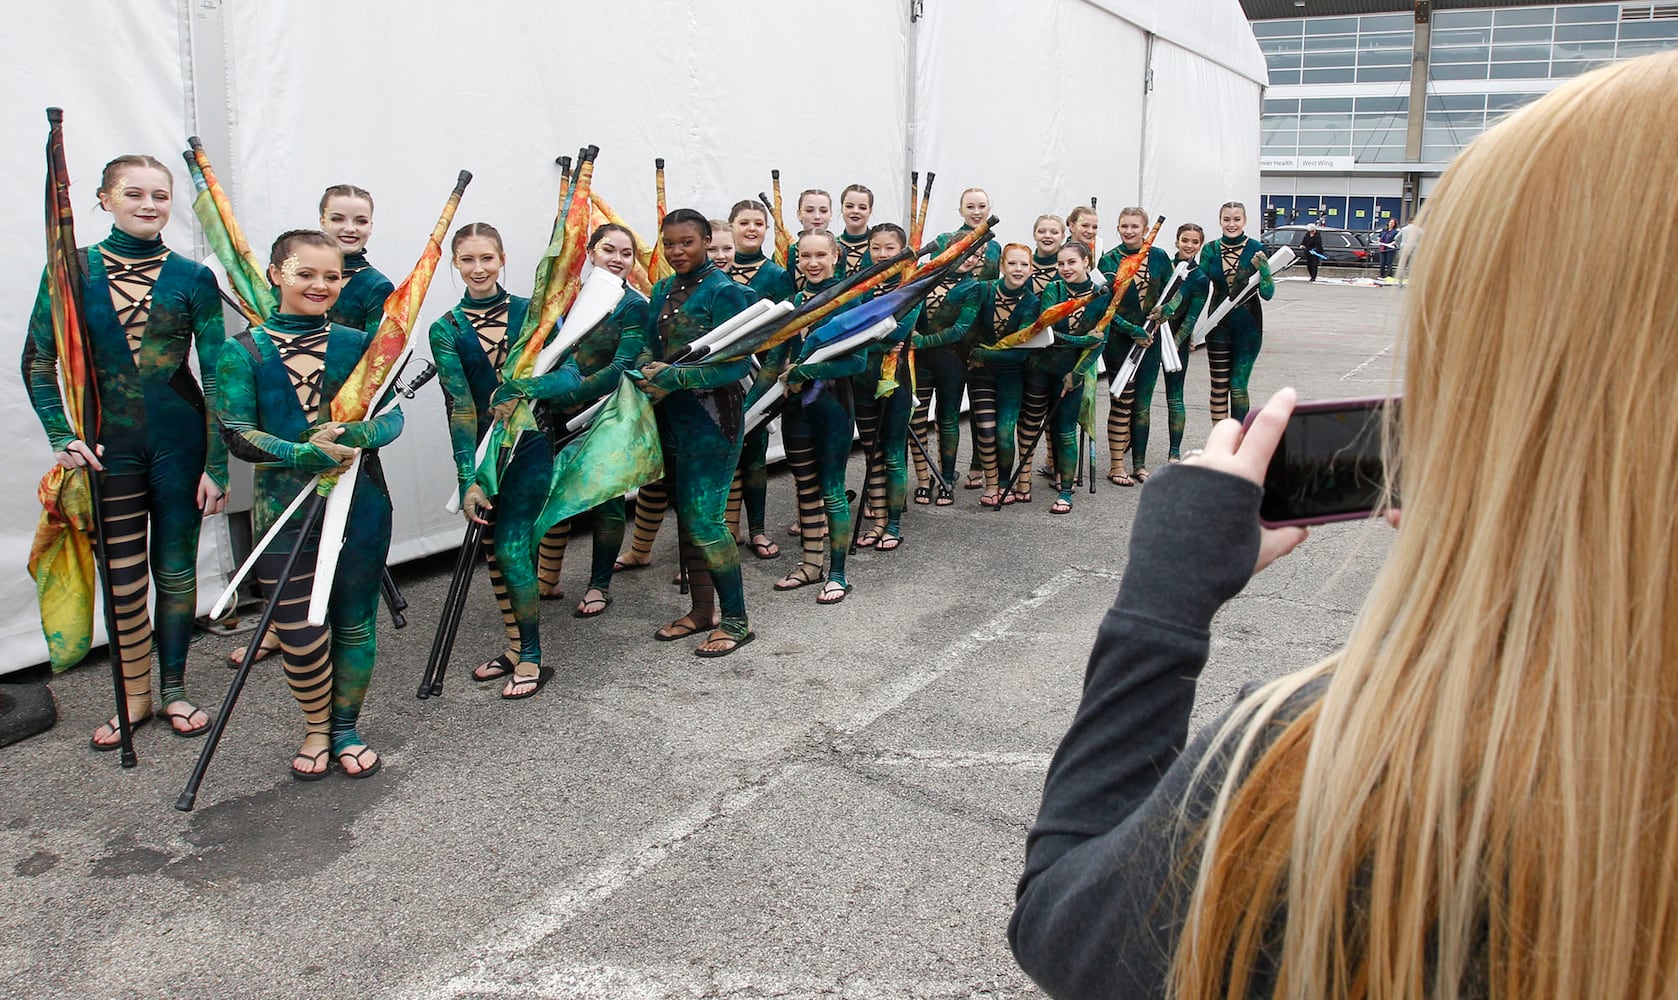
[[[1165,997],[1193,884],[1183,849],[1223,770],[1215,762],[1190,797],[1215,727],[1185,752],[1188,718],[1212,616],[1258,557],[1258,497],[1247,480],[1183,465],[1143,490],[1008,924],[1015,958],[1050,997]]]

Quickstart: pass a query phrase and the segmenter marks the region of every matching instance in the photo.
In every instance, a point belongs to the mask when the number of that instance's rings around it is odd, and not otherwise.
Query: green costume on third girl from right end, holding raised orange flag
[[[1123,243],[1101,255],[1096,265],[1101,273],[1113,280],[1119,267],[1134,257],[1138,248]],[[1113,329],[1107,331],[1107,346],[1102,357],[1107,362],[1107,378],[1118,374],[1133,344],[1148,341],[1148,314],[1159,302],[1165,284],[1171,280],[1171,257],[1161,247],[1149,247],[1148,258],[1136,268],[1136,275],[1119,299],[1119,310],[1113,315]],[[1124,453],[1131,451],[1131,465],[1138,470],[1148,468],[1148,419],[1153,409],[1153,391],[1159,381],[1159,344],[1149,344],[1143,351],[1143,359],[1136,366],[1136,378],[1126,386],[1107,408],[1107,477],[1124,473]]]

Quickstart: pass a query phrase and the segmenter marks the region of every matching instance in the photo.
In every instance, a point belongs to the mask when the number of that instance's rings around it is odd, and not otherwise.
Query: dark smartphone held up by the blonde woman
[[[1398,398],[1299,403],[1264,478],[1258,520],[1267,527],[1366,518],[1386,490],[1384,411]],[[1258,411],[1247,414],[1247,421]],[[1394,423],[1396,426],[1396,423]],[[1393,492],[1398,505],[1398,492]]]

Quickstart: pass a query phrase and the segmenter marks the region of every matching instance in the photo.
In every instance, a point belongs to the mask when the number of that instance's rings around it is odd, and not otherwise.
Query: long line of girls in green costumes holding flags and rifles
[[[718,218],[661,206],[649,245],[589,200],[591,173],[592,163],[569,176],[582,210],[567,216],[562,206],[555,221],[559,247],[560,230],[581,220],[581,232],[567,233],[577,247],[544,267],[571,262],[577,273],[612,275],[611,292],[621,289],[616,304],[596,309],[576,336],[592,279],[559,290],[559,279],[544,284],[549,272],[539,270],[530,299],[510,295],[502,235],[475,221],[453,230],[446,252],[465,295],[430,324],[455,500],[482,529],[505,626],[505,648],[470,656],[487,654],[472,676],[495,683],[502,698],[529,698],[554,676],[552,654],[544,661],[542,611],[562,597],[559,564],[572,529],[591,532],[587,589],[572,614],[594,617],[612,606],[614,572],[651,562],[664,512],[675,508],[675,572],[691,606],[653,638],[695,638],[698,656],[728,656],[755,638],[742,547],[757,559],[780,559],[775,537],[794,539],[797,560],[774,589],[814,587],[814,602],[832,606],[856,586],[847,555],[904,544],[911,503],[948,507],[963,487],[985,507],[1030,503],[1040,471],[1054,490],[1049,513],[1071,513],[1086,460],[1094,475],[1094,445],[1086,458],[1081,430],[1094,431],[1101,374],[1124,379],[1107,388],[1106,419],[1106,478],[1121,487],[1148,478],[1161,371],[1166,460],[1178,460],[1186,361],[1201,339],[1213,419],[1247,413],[1264,341],[1260,302],[1274,284],[1262,245],[1245,235],[1238,203],[1218,208],[1210,242],[1200,225],[1161,230],[1143,208],[1123,208],[1116,243],[1102,253],[1091,205],[1037,216],[1029,242],[1000,242],[990,232],[997,221],[988,195],[968,188],[955,205],[960,225],[923,237],[925,203],[916,211],[911,196],[911,218],[881,221],[874,193],[849,185],[837,203],[827,191],[802,191],[794,205],[799,230],[789,232],[777,190],[774,205],[747,196]],[[211,193],[220,196],[213,185]],[[930,193],[928,174],[928,201]],[[121,718],[102,723],[91,747],[116,750],[126,728],[153,718],[180,737],[211,728],[211,715],[188,695],[185,668],[200,523],[227,503],[232,453],[255,466],[255,534],[279,525],[255,560],[253,576],[274,612],[272,629],[253,649],[258,659],[280,658],[302,713],[290,773],[317,780],[337,768],[369,777],[381,758],[359,716],[376,661],[391,542],[391,495],[378,456],[401,435],[403,413],[381,383],[386,391],[369,394],[362,416],[334,414],[344,413],[342,394],[383,349],[376,341],[391,327],[386,310],[411,294],[409,282],[398,287],[367,262],[373,195],[334,185],[319,201],[319,228],[272,242],[262,275],[272,305],[250,304],[247,319],[252,312],[257,319],[230,336],[216,275],[159,238],[173,195],[175,178],[161,161],[112,159],[99,185],[111,233],[70,265],[97,391],[96,435],[77,433],[65,419],[69,383],[81,369],[62,357],[64,290],[47,279],[23,344],[25,386],[57,463],[99,477],[102,487],[99,557],[114,597],[112,649],[128,727]],[[233,243],[240,242],[235,232]],[[540,255],[532,250],[529,257]],[[428,279],[421,270],[416,275]],[[1248,289],[1257,294],[1243,295]],[[423,280],[416,292],[414,309]],[[262,289],[243,299],[262,299]],[[1215,324],[1203,322],[1232,299],[1237,304]],[[552,315],[555,304],[569,309],[562,320]],[[780,312],[770,314],[769,304]],[[760,322],[752,310],[770,319]],[[730,341],[730,324],[782,332]],[[846,324],[864,332],[842,341]],[[562,346],[559,357],[532,364],[549,344]],[[198,379],[188,367],[191,352]],[[963,399],[973,435],[968,468],[958,465]],[[594,497],[592,507],[567,508],[550,523],[574,478],[596,475],[577,471],[584,463],[572,456],[581,441],[602,421],[631,421],[641,411],[649,411],[644,436],[656,435],[646,441],[648,478],[631,483],[629,497]],[[765,414],[780,419],[797,500],[792,525],[765,520]],[[498,446],[485,453],[487,441]],[[1045,465],[1034,470],[1039,443]],[[852,502],[847,477],[857,450]],[[317,567],[326,549],[320,522],[292,513],[294,497],[312,490],[317,477],[337,477],[352,497],[324,616],[310,614],[317,569],[326,569]],[[240,653],[230,656],[238,659]]]

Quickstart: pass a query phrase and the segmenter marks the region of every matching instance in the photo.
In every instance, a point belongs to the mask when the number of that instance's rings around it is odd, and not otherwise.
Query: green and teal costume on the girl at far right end
[[[1275,295],[1270,262],[1264,243],[1250,237],[1220,237],[1200,250],[1200,270],[1206,275],[1206,294],[1212,309],[1238,294],[1258,275],[1258,294],[1237,305],[1215,331],[1206,334],[1206,362],[1212,367],[1212,419],[1227,416],[1247,418],[1247,384],[1252,381],[1253,362],[1264,347],[1262,299]]]

